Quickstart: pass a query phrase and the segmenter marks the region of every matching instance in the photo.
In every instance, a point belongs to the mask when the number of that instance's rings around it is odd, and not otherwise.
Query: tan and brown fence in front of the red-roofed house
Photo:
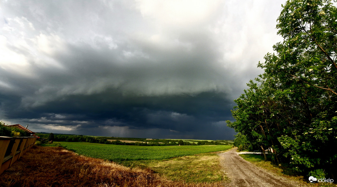
[[[33,147],[36,138],[0,136],[0,174]]]

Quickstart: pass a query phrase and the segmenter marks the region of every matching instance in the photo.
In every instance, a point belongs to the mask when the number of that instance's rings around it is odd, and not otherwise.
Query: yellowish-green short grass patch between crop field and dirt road
[[[123,165],[151,169],[172,181],[215,183],[228,180],[221,172],[218,152],[202,153],[166,160],[124,161]]]

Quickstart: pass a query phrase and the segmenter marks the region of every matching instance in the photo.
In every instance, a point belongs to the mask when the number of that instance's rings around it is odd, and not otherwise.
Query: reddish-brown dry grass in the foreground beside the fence
[[[220,183],[173,182],[150,170],[79,156],[61,147],[34,147],[0,178],[0,186],[216,187]]]

